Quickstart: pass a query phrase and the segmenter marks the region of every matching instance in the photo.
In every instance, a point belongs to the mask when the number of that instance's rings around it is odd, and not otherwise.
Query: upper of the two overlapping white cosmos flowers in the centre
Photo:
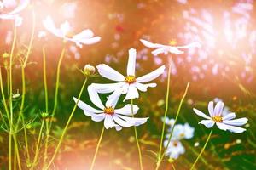
[[[135,74],[136,67],[136,49],[131,48],[129,50],[129,59],[127,65],[127,76],[123,76],[118,71],[113,70],[113,68],[108,65],[101,64],[97,65],[99,74],[102,77],[108,78],[109,80],[116,81],[117,83],[109,84],[96,84],[92,83],[90,86],[100,94],[108,94],[121,89],[122,94],[126,94],[125,100],[127,99],[137,99],[139,97],[138,91],[146,92],[148,87],[156,87],[156,83],[145,83],[154,80],[159,77],[165,71],[165,65],[160,66],[160,68],[152,71],[142,77],[137,77]]]

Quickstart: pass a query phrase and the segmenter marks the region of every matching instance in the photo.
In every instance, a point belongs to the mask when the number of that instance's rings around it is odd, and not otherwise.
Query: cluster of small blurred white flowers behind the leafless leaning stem
[[[162,121],[164,121],[164,119],[162,119]],[[174,122],[174,119],[169,119],[166,117],[166,125],[169,126],[169,129],[168,133],[166,134],[164,146],[166,147],[166,156],[169,156],[170,159],[177,159],[178,156],[185,153],[185,148],[181,143],[181,140],[193,138],[195,132],[195,128],[190,127],[189,123],[174,125]],[[168,144],[168,139],[170,138],[171,132],[172,137],[170,143]]]

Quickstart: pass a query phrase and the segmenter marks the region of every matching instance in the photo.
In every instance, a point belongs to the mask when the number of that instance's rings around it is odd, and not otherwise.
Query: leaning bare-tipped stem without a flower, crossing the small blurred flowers
[[[169,144],[170,144],[170,142],[171,142],[173,129],[174,129],[175,125],[176,125],[177,117],[179,116],[181,107],[182,107],[182,105],[183,105],[183,100],[185,99],[185,97],[186,97],[186,95],[187,95],[187,93],[188,93],[189,84],[190,84],[190,82],[188,82],[187,87],[186,87],[186,90],[185,90],[185,92],[184,92],[184,94],[183,94],[183,98],[181,99],[181,101],[180,101],[180,103],[179,103],[179,105],[178,105],[177,114],[176,114],[176,117],[175,117],[175,121],[174,121],[174,123],[173,123],[173,125],[172,125],[172,130],[171,130],[170,136],[169,136],[169,138],[168,138],[168,142],[167,142],[167,144],[166,144],[166,149],[165,149],[165,151],[160,155],[160,160],[157,161],[155,170],[158,170],[158,169],[160,168],[160,163],[161,163],[161,161],[163,160],[163,158],[164,158],[164,156],[165,156],[165,153],[166,153],[166,150],[167,150],[167,148],[169,147]]]

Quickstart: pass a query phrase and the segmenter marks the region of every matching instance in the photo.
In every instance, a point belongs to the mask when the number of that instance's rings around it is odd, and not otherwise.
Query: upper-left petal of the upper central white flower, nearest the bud
[[[108,78],[109,80],[117,81],[117,82],[124,82],[125,77],[121,75],[118,71],[113,70],[108,65],[101,64],[97,65],[96,68],[102,77]]]

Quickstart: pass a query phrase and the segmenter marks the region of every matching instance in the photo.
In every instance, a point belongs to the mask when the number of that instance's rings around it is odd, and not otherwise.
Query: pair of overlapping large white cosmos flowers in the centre
[[[139,110],[137,105],[128,104],[120,109],[115,109],[121,94],[126,94],[125,100],[137,99],[139,96],[137,90],[146,92],[148,87],[153,88],[156,86],[156,83],[143,83],[154,80],[165,71],[165,65],[162,65],[160,68],[144,75],[143,77],[136,77],[136,57],[136,49],[131,48],[129,50],[126,77],[120,74],[118,71],[113,70],[113,68],[109,67],[108,65],[101,64],[96,66],[99,74],[102,77],[116,81],[116,83],[108,84],[92,83],[88,87],[90,100],[99,109],[94,109],[90,107],[90,105],[85,104],[83,101],[78,101],[78,99],[74,98],[75,102],[78,102],[79,108],[84,111],[86,116],[90,116],[95,122],[104,121],[104,126],[107,129],[115,127],[116,130],[119,131],[122,129],[122,127],[139,126],[148,120],[148,117],[133,117]],[[108,96],[106,104],[103,105],[101,99],[99,98],[99,94],[109,93],[112,94]]]

